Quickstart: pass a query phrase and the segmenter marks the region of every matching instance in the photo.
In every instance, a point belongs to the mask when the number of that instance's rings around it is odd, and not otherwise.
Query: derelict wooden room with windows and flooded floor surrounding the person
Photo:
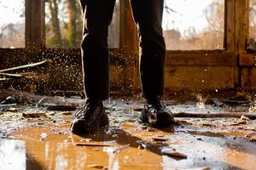
[[[256,0],[163,2],[167,127],[140,120],[140,38],[130,0],[116,0],[109,125],[77,134],[81,2],[0,0],[0,169],[256,168]]]

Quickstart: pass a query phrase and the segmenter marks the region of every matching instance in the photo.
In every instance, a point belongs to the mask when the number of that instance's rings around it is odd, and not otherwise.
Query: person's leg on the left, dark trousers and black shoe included
[[[109,95],[108,26],[115,0],[81,0],[84,14],[82,65],[86,105],[77,111],[73,133],[87,133],[108,125],[102,101]]]

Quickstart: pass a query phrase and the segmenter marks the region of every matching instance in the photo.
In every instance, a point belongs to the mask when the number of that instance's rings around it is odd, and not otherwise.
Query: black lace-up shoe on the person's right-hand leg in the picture
[[[166,127],[174,124],[172,112],[166,108],[162,99],[156,99],[153,103],[144,105],[140,119],[152,126]]]

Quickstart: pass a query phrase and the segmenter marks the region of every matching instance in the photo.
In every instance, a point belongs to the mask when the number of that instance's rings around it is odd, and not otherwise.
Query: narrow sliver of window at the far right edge
[[[249,6],[249,38],[248,49],[256,50],[256,0],[250,1]]]

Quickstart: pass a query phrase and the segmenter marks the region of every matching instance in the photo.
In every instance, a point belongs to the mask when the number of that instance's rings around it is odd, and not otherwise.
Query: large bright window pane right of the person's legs
[[[224,0],[166,0],[162,24],[169,50],[224,49]]]

